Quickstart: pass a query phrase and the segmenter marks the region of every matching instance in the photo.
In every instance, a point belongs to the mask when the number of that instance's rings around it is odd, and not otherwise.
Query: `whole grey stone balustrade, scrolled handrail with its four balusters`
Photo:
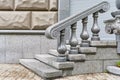
[[[92,31],[92,37],[91,40],[98,41],[100,40],[99,32],[100,28],[98,26],[98,13],[106,12],[109,9],[109,3],[108,2],[102,2],[92,8],[89,8],[81,13],[75,14],[73,16],[70,16],[50,27],[47,28],[45,35],[46,37],[50,39],[57,38],[58,45],[57,45],[57,51],[59,53],[57,60],[59,62],[63,62],[67,60],[67,56],[65,55],[67,48],[65,43],[65,29],[67,27],[71,28],[71,35],[70,35],[70,50],[69,54],[78,54],[79,53],[79,47],[78,46],[78,40],[76,37],[76,29],[77,29],[77,22],[79,20],[82,20],[83,28],[82,33],[80,35],[81,37],[81,44],[80,47],[89,47],[90,42],[88,40],[89,34],[87,32],[87,22],[88,22],[88,16],[90,14],[93,14],[93,26],[91,28]]]

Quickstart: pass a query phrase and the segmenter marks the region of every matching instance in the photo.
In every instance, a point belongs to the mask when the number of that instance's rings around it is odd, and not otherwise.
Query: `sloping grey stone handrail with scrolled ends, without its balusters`
[[[91,7],[83,12],[77,13],[73,16],[70,16],[46,29],[45,35],[49,39],[57,38],[60,35],[60,31],[65,29],[66,27],[76,23],[80,19],[83,19],[87,17],[90,14],[93,14],[95,12],[106,12],[109,9],[109,3],[106,1],[101,2],[100,4]]]

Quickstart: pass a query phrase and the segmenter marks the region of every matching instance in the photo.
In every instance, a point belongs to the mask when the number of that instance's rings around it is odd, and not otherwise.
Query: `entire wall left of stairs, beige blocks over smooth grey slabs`
[[[58,0],[0,0],[0,63],[55,49],[44,31],[58,21]]]

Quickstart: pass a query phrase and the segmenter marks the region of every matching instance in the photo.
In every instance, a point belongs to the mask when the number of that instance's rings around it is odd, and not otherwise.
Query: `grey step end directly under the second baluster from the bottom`
[[[69,61],[85,61],[85,54],[68,54]]]

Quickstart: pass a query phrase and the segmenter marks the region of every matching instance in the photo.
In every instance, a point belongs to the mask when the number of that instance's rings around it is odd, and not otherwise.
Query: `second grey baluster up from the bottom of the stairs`
[[[71,38],[70,38],[70,54],[78,54],[78,48],[76,47],[78,45],[78,40],[76,38],[76,26],[77,23],[74,23],[71,25]]]

